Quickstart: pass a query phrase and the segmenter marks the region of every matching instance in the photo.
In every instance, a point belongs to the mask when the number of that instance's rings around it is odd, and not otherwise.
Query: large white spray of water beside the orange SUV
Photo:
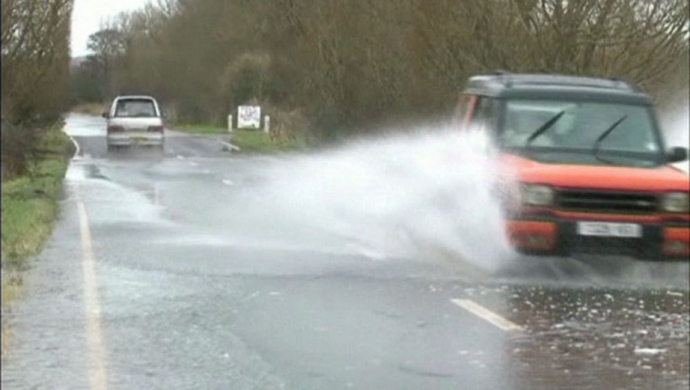
[[[493,269],[510,251],[493,195],[495,156],[481,132],[426,129],[359,141],[281,160],[256,188],[261,205],[242,209],[254,218],[261,209],[283,239],[301,245],[420,260],[433,247]]]

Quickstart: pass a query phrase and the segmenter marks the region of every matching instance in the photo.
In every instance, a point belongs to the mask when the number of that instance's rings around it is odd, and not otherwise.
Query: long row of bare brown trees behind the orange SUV
[[[259,99],[328,136],[449,114],[467,76],[497,68],[655,93],[688,25],[684,0],[159,0],[115,23],[128,44],[114,79],[189,121]]]

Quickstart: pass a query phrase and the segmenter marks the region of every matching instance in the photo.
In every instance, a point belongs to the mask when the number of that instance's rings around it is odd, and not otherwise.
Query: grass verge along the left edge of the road
[[[2,311],[21,295],[22,271],[38,254],[59,212],[62,183],[74,152],[70,138],[55,125],[36,145],[30,173],[2,183]],[[2,357],[8,350],[8,325],[2,323]]]

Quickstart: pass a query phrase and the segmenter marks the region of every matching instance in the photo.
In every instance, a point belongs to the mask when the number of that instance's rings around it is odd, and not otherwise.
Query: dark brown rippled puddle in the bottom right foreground
[[[562,373],[575,387],[606,378],[602,388],[642,380],[687,388],[687,291],[516,287],[507,294],[510,317],[529,329],[511,354],[525,377]]]

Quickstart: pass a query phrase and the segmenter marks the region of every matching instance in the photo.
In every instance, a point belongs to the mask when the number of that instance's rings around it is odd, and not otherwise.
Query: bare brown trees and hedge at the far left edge
[[[26,170],[32,141],[67,108],[72,0],[2,0],[3,178]]]

